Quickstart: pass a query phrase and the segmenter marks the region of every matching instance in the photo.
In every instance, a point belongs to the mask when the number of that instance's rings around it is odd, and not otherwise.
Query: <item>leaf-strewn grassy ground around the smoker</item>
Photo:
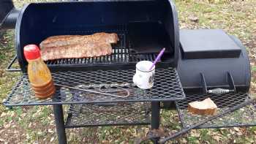
[[[26,1],[15,0],[21,7]],[[254,51],[256,48],[256,2],[254,0],[176,0],[181,29],[224,29],[233,34],[250,52],[252,71],[256,72]],[[189,20],[196,16],[198,23]],[[0,101],[6,98],[18,80],[19,72],[10,73],[4,69],[15,56],[14,31],[8,30],[0,41]],[[256,83],[252,77],[252,86]],[[253,87],[252,87],[253,88]],[[254,92],[255,89],[252,89]],[[67,110],[67,107],[65,108]],[[10,110],[0,105],[0,139],[8,143],[57,143],[56,130],[50,106],[14,107]],[[161,127],[168,132],[181,129],[174,110],[162,110]],[[12,127],[14,126],[14,127]],[[135,137],[143,137],[149,126],[113,126],[86,129],[67,129],[69,143],[133,143]],[[240,129],[199,129],[169,143],[256,143],[256,126]],[[0,141],[1,143],[1,141]]]

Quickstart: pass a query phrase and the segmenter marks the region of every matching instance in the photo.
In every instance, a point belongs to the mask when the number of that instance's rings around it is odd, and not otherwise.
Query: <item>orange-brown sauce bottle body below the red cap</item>
[[[53,96],[56,92],[56,88],[53,85],[53,80],[50,74],[50,70],[39,57],[33,60],[27,60],[28,75],[31,87],[34,90],[34,94],[39,99],[46,99]]]

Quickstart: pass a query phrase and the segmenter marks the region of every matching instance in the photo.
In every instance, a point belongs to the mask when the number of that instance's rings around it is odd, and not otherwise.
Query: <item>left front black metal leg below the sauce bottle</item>
[[[55,117],[55,124],[56,124],[59,144],[67,144],[62,105],[53,105],[53,113]]]

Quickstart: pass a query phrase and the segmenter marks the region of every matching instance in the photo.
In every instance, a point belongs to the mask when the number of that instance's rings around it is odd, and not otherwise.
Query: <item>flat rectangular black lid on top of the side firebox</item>
[[[183,58],[236,58],[241,48],[221,29],[180,31]]]

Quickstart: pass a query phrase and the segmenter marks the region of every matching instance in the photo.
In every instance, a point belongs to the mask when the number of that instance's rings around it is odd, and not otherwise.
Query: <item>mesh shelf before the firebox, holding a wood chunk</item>
[[[210,97],[217,105],[217,113],[222,113],[227,110],[228,107],[234,107],[241,104],[246,99],[249,99],[249,94],[207,94],[207,95],[187,95],[187,98],[183,101],[177,101],[176,107],[181,123],[184,128],[197,124],[200,121],[206,120],[209,116],[204,115],[192,115],[187,110],[189,102],[201,101]],[[213,121],[203,124],[199,129],[203,128],[219,128],[219,127],[233,127],[233,126],[254,126],[256,125],[256,105],[248,105],[233,113],[227,113],[221,118],[217,118]]]

